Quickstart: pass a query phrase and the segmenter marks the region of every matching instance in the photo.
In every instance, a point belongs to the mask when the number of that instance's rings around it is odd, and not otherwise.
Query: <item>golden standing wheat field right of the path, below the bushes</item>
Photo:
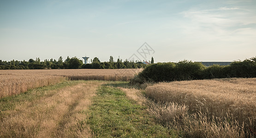
[[[256,78],[159,83],[146,95],[169,103],[151,113],[189,137],[253,137],[256,131]]]

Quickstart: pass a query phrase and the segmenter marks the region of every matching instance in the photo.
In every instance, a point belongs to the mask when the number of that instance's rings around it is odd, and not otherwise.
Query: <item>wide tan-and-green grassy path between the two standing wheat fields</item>
[[[0,138],[177,137],[115,84],[127,82],[66,81],[0,98]]]

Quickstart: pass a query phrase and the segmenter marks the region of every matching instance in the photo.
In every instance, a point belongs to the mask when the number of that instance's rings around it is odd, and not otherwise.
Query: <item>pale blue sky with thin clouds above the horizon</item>
[[[60,56],[255,57],[256,0],[0,0],[1,60]]]

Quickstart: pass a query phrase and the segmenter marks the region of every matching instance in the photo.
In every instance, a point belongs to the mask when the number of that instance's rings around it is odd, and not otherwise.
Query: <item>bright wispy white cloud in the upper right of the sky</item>
[[[232,12],[230,12],[232,10]],[[222,11],[222,12],[220,12]],[[220,7],[211,10],[189,10],[181,14],[191,20],[192,23],[203,27],[218,27],[220,29],[240,28],[241,24],[256,23],[256,16],[241,10],[238,7]]]

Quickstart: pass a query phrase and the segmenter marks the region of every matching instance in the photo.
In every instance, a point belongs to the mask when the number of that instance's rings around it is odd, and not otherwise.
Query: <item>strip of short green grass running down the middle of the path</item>
[[[95,137],[170,138],[172,130],[155,123],[146,107],[126,98],[118,88],[103,85],[90,107],[88,124]]]

